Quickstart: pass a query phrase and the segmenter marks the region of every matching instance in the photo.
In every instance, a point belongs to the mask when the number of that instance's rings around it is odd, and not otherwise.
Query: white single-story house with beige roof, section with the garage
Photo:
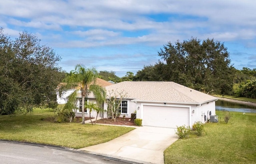
[[[123,81],[106,86],[109,91],[125,91],[126,100],[122,101],[121,115],[142,119],[146,126],[176,128],[190,126],[196,121],[205,123],[215,115],[216,97],[185,87],[171,81]],[[104,103],[107,110],[107,103]],[[104,113],[104,118],[107,118]]]

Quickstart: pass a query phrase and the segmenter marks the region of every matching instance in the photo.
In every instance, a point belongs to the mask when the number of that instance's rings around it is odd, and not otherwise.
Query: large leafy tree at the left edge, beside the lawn
[[[64,74],[60,56],[37,36],[24,31],[15,40],[0,28],[0,114],[32,111],[56,101],[56,86]]]

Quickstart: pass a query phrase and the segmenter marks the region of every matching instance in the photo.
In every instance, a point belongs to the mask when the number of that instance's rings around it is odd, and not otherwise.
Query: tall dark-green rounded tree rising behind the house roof
[[[144,67],[137,72],[136,79],[145,79],[145,75],[147,80],[158,77],[205,93],[228,94],[232,91],[235,69],[227,48],[220,41],[191,38],[174,44],[168,42],[158,55],[163,61]]]

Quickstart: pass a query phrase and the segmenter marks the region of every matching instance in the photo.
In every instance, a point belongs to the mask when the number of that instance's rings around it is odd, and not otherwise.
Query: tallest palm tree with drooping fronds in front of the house
[[[94,94],[96,102],[101,104],[106,99],[106,91],[103,87],[96,84],[98,71],[92,68],[86,68],[78,64],[75,70],[70,71],[64,79],[65,89],[76,89],[69,97],[66,105],[77,102],[78,94],[82,97],[82,124],[84,124],[84,102],[87,102],[90,92]],[[90,88],[89,88],[90,87]]]

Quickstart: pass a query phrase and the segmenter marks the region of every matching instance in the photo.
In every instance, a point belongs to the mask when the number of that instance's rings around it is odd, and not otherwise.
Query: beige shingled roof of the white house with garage
[[[185,87],[172,81],[123,81],[106,86],[106,91],[128,93],[127,99],[139,102],[178,103],[200,105],[217,100],[216,97]]]

